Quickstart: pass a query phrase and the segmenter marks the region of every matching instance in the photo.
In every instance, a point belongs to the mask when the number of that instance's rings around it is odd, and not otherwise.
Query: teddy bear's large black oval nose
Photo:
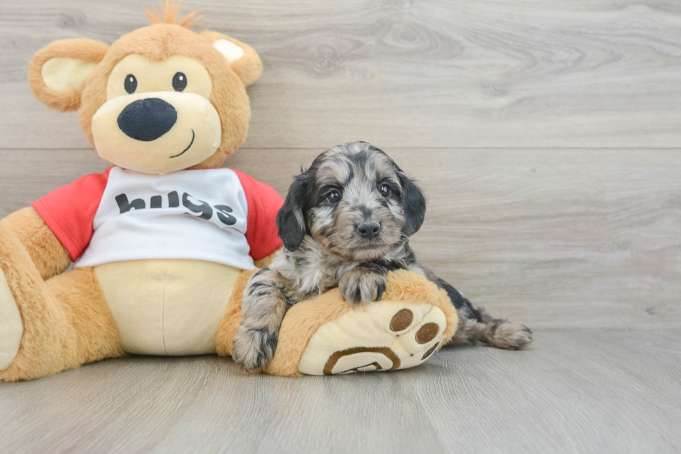
[[[151,142],[163,136],[177,122],[175,108],[159,98],[138,99],[118,115],[118,127],[126,136]]]

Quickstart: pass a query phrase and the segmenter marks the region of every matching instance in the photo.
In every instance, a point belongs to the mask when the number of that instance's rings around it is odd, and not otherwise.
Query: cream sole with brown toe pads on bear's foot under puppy
[[[439,307],[381,301],[359,306],[322,325],[310,339],[299,371],[337,375],[418,366],[445,339]]]

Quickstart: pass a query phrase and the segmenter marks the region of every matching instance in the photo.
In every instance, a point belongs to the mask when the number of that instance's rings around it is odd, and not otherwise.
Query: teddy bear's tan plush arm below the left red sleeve
[[[47,227],[33,206],[15,211],[2,220],[24,245],[43,279],[63,273],[71,264],[69,252]]]

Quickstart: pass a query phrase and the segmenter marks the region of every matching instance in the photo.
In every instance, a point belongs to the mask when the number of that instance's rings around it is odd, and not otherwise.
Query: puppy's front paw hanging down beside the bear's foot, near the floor
[[[277,332],[267,328],[240,325],[232,339],[232,358],[247,372],[264,371],[272,362],[277,339]]]

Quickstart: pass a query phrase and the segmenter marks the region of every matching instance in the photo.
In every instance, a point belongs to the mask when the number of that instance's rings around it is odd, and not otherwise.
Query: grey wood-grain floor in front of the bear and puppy
[[[418,368],[240,374],[217,357],[129,357],[0,383],[6,453],[678,453],[681,331],[539,335]]]

